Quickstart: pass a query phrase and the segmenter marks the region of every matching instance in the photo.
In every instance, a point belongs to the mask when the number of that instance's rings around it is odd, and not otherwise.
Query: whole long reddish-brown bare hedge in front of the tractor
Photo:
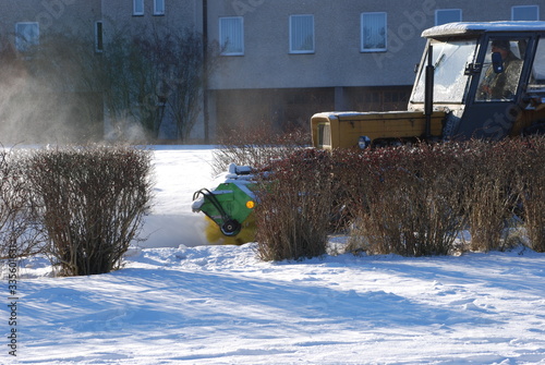
[[[545,251],[543,136],[303,149],[277,163],[265,149],[247,148],[256,155],[241,156],[244,163],[274,171],[262,182],[256,217],[263,259],[320,255],[327,234],[343,227],[351,228],[349,250],[368,254],[446,255],[465,248],[457,241],[465,230],[470,250],[505,250],[520,243],[511,234],[520,218],[532,248]]]

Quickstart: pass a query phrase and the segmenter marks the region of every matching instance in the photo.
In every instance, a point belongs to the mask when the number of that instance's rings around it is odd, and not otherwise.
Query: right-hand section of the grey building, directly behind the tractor
[[[209,34],[225,49],[210,82],[217,125],[306,126],[316,111],[404,109],[423,29],[542,20],[543,8],[532,0],[215,2]]]

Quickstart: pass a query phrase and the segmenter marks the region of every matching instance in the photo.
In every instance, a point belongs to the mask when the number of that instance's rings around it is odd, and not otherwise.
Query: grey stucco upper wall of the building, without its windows
[[[412,84],[436,9],[461,9],[463,21],[510,20],[512,5],[531,0],[208,0],[208,34],[218,40],[219,17],[244,17],[244,56],[221,57],[210,80],[216,89],[388,86]],[[166,15],[133,15],[132,0],[0,0],[0,34],[13,35],[16,22],[39,22],[40,35],[74,28],[92,35],[105,22],[105,36],[166,26],[171,32],[202,31],[203,0],[167,0]],[[540,7],[545,19],[545,5]],[[360,15],[386,12],[388,50],[360,51]],[[289,53],[289,16],[313,14],[315,52]]]

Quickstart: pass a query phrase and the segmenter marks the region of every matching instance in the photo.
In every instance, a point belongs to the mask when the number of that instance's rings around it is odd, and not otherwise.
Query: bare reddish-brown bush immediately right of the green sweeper
[[[259,258],[302,259],[325,254],[336,190],[329,153],[302,150],[276,163],[271,171],[257,193]]]

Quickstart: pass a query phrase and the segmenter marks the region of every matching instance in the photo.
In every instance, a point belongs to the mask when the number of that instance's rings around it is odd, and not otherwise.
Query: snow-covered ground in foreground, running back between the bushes
[[[203,245],[191,198],[213,187],[210,158],[156,149],[149,240],[123,269],[20,263],[20,364],[545,364],[544,254],[259,261],[255,243]]]

